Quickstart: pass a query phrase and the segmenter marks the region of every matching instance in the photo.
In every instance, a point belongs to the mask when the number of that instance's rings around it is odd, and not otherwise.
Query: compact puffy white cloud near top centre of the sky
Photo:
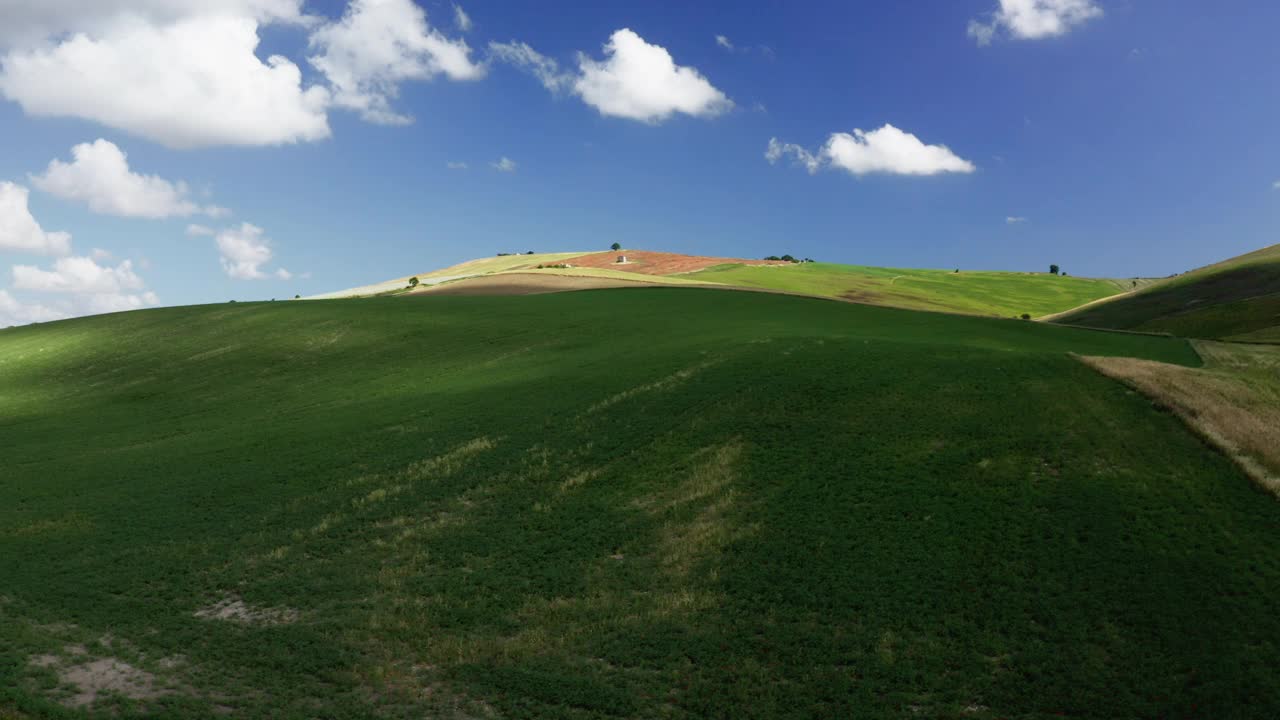
[[[580,53],[579,70],[573,91],[602,115],[657,123],[675,113],[713,117],[733,106],[695,68],[677,65],[666,47],[626,28],[609,36],[603,60]]]

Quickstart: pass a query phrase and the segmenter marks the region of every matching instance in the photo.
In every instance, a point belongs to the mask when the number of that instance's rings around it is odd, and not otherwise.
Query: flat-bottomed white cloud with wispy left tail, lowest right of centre
[[[864,132],[836,132],[818,152],[771,138],[764,156],[777,163],[791,155],[809,173],[824,167],[855,176],[888,173],[897,176],[933,176],[940,173],[972,173],[977,168],[945,145],[925,145],[920,138],[891,124]]]

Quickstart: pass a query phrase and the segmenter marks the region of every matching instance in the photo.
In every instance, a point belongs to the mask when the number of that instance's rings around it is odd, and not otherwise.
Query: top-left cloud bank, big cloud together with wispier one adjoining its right
[[[0,96],[35,117],[82,118],[169,147],[311,142],[329,111],[403,124],[399,85],[484,67],[413,0],[352,0],[337,20],[301,0],[0,0]],[[465,15],[465,13],[463,13]],[[283,55],[257,56],[268,24],[307,28],[303,82]]]

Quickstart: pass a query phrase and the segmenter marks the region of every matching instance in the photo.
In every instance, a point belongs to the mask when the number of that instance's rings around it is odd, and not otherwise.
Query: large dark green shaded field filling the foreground
[[[1197,363],[707,290],[0,332],[0,716],[1276,716],[1280,507],[1066,351]]]

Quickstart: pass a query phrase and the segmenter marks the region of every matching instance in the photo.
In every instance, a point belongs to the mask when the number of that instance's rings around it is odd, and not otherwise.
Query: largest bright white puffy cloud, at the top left
[[[283,56],[262,63],[255,54],[257,17],[230,12],[253,3],[193,5],[177,3],[154,17],[122,12],[91,32],[10,50],[0,59],[0,95],[29,115],[95,120],[169,147],[329,137],[329,92],[303,88],[301,70]],[[219,5],[224,12],[214,12]],[[278,5],[276,14],[296,9]],[[169,15],[177,19],[159,19]]]

